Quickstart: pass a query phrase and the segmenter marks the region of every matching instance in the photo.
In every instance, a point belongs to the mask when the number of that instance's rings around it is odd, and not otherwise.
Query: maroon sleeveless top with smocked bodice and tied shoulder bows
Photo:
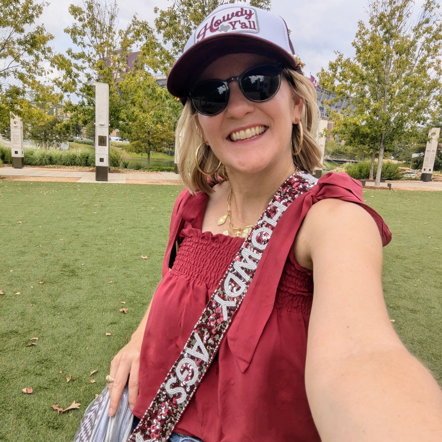
[[[163,279],[152,301],[141,348],[139,396],[133,410],[139,418],[243,242],[201,231],[207,198],[202,193],[190,196],[185,190],[175,203]],[[329,173],[293,202],[290,213],[282,217],[290,216],[293,228],[287,234],[276,234],[275,229],[269,247],[281,248],[288,238],[292,244],[309,208],[324,198],[361,205],[376,221],[383,244],[391,240],[382,218],[363,204],[361,184],[346,174]],[[179,251],[168,271],[177,238]],[[204,442],[320,442],[304,383],[312,272],[296,262],[293,252],[281,256],[279,263],[264,264],[266,278],[259,290],[249,291],[244,298],[175,432]]]

